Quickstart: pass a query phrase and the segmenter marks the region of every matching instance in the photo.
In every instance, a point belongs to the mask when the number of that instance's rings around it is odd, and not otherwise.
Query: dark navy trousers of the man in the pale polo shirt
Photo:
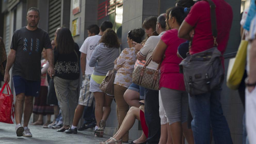
[[[161,134],[159,91],[145,88],[145,120],[148,126],[147,144],[158,144]]]

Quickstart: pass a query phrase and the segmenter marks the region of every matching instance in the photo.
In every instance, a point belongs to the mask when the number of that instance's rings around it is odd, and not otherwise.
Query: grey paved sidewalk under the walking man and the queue
[[[83,144],[98,144],[100,141],[105,141],[111,136],[104,135],[103,138],[94,137],[92,129],[78,131],[77,134],[66,134],[57,132],[56,129],[45,129],[41,125],[29,125],[30,132],[33,137],[17,137],[15,132],[15,124],[0,123],[0,143],[1,144],[62,144],[62,143],[83,143]]]

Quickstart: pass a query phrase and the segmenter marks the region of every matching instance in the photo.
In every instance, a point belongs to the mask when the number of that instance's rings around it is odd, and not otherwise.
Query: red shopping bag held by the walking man
[[[3,93],[5,86],[7,88],[8,94]],[[5,83],[0,92],[0,122],[13,124],[13,120],[14,120],[13,94],[11,92],[9,84]]]

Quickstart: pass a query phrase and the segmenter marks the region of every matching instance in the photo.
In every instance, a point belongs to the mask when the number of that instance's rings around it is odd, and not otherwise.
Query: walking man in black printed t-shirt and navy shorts
[[[43,48],[47,51],[50,64],[47,72],[52,77],[53,51],[49,35],[46,31],[37,27],[39,22],[39,9],[31,7],[27,13],[28,25],[14,31],[12,36],[11,51],[7,58],[4,82],[10,81],[9,71],[13,65],[13,84],[16,93],[14,105],[16,134],[18,137],[32,137],[28,128],[29,119],[33,110],[33,99],[37,97],[41,84],[41,53]],[[21,119],[24,108],[24,123]]]

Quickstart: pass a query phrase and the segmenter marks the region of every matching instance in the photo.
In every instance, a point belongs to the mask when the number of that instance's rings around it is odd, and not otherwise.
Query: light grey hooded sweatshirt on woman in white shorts
[[[119,48],[108,48],[104,43],[97,45],[89,61],[89,66],[94,67],[92,74],[105,76],[114,68],[114,61],[118,56]]]

